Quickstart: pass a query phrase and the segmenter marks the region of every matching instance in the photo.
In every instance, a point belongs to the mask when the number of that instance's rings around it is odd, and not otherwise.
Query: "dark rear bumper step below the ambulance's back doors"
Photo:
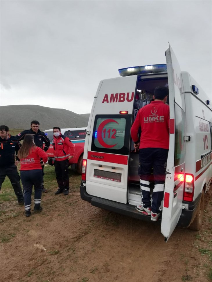
[[[141,220],[149,221],[149,222],[151,221],[150,216],[141,214],[139,211],[135,209],[135,206],[129,205],[129,204],[122,204],[122,203],[118,203],[115,201],[91,196],[86,192],[85,187],[83,187],[82,185],[80,185],[80,195],[81,195],[82,200],[85,200],[91,203],[92,206],[100,207],[101,209],[107,209],[109,211],[113,211],[118,214],[123,214],[125,216],[130,216],[136,219],[141,219]],[[154,224],[161,225],[161,216],[158,221],[154,222]]]

